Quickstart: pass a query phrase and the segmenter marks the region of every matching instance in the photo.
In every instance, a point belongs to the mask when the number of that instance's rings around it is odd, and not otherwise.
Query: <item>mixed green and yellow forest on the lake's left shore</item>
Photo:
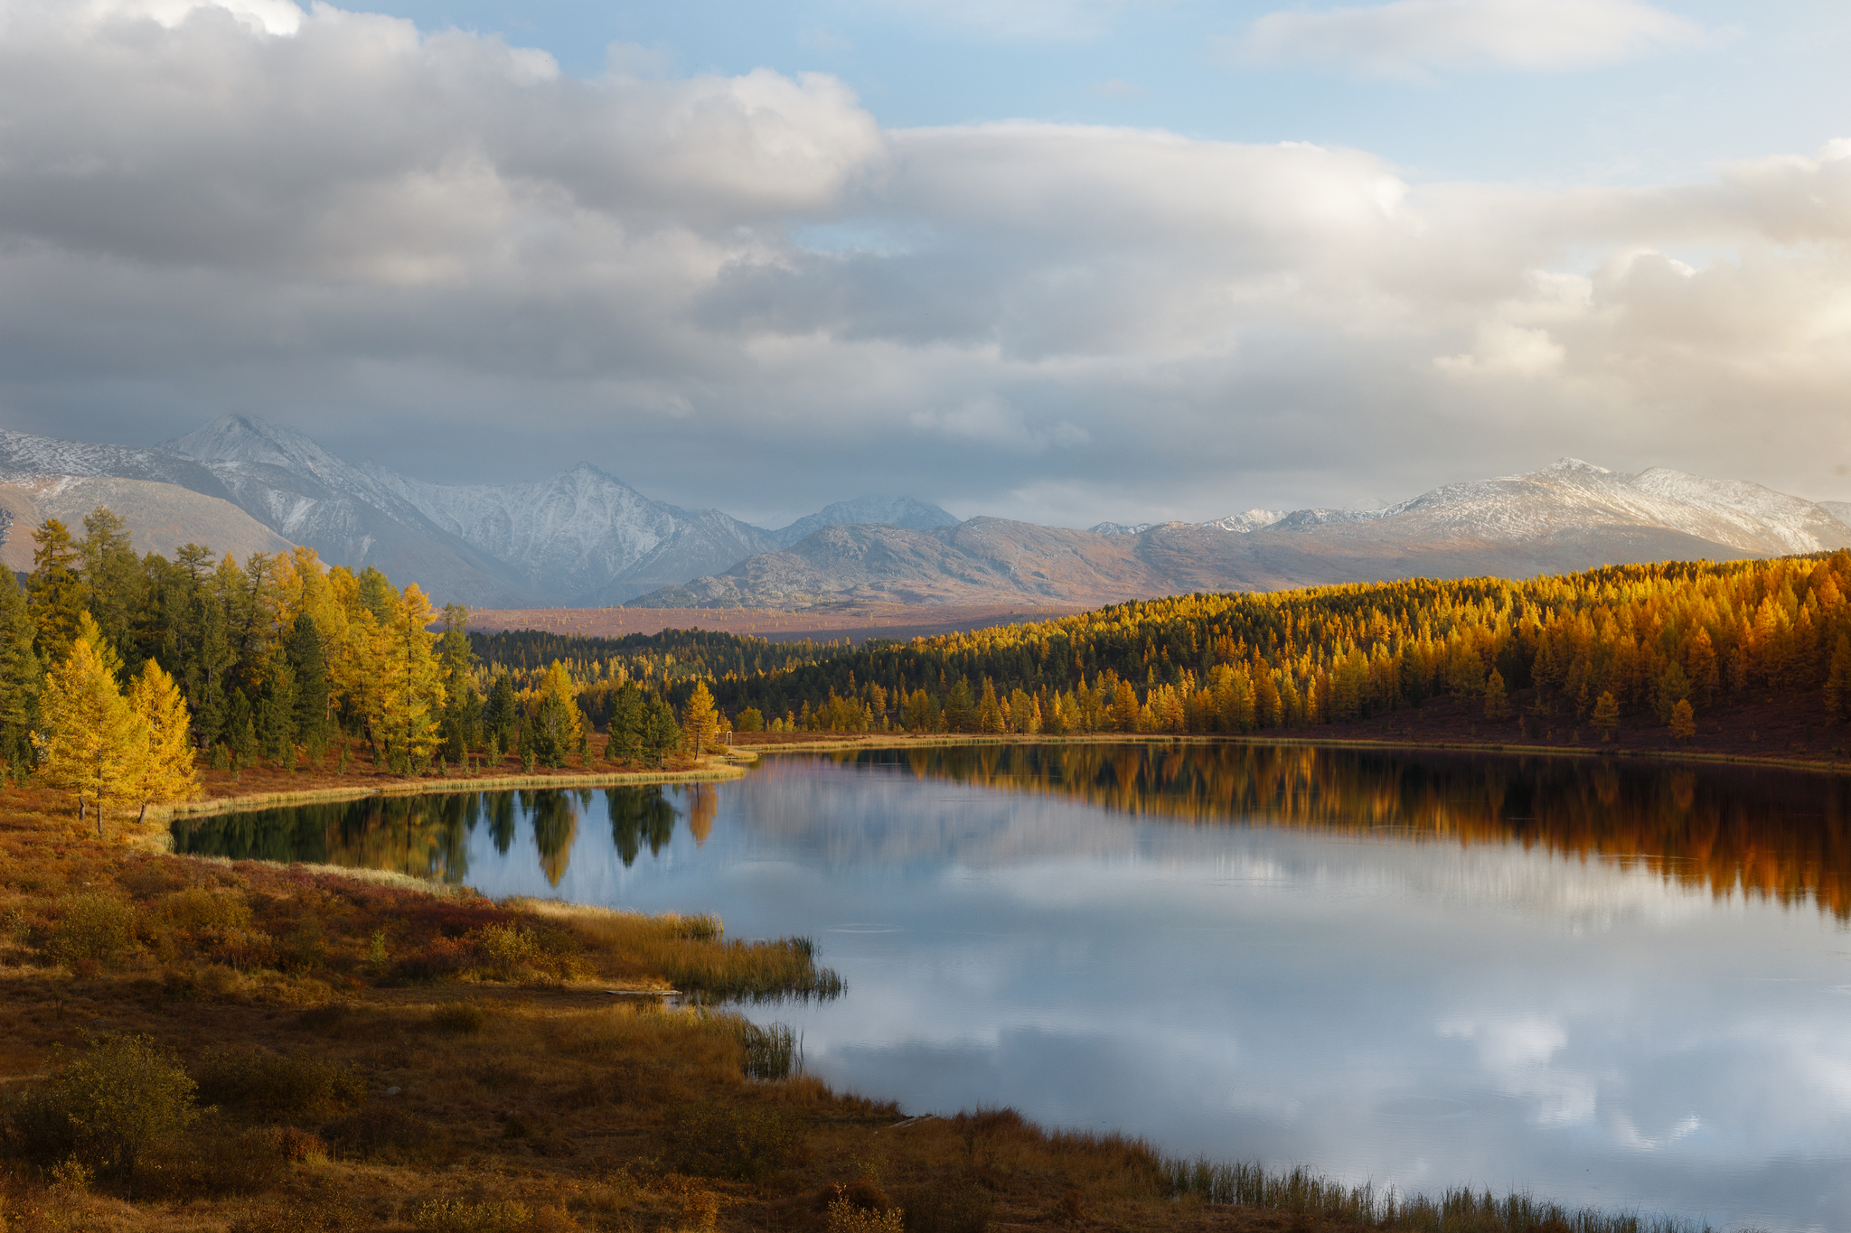
[[[83,812],[183,799],[198,760],[344,769],[359,747],[400,775],[585,763],[585,706],[611,760],[661,765],[724,726],[703,688],[683,691],[677,715],[661,673],[574,680],[552,660],[516,680],[476,656],[466,623],[416,584],[328,569],[307,547],[239,562],[187,543],[168,560],[137,556],[107,508],[81,536],[46,519],[24,586],[0,571],[0,762]]]

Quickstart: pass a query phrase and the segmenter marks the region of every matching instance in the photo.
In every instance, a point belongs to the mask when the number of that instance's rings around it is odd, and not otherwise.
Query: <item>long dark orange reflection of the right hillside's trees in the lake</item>
[[[1398,832],[1640,863],[1716,895],[1816,902],[1851,919],[1851,793],[1840,776],[1634,758],[1381,754],[1240,745],[968,745],[839,754],[1131,817]]]

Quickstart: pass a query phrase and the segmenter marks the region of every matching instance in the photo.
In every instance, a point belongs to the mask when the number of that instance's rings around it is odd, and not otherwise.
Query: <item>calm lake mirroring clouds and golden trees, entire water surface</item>
[[[748,1013],[907,1113],[1851,1227],[1851,791],[1829,776],[1020,745],[176,836],[807,934],[848,995]]]

